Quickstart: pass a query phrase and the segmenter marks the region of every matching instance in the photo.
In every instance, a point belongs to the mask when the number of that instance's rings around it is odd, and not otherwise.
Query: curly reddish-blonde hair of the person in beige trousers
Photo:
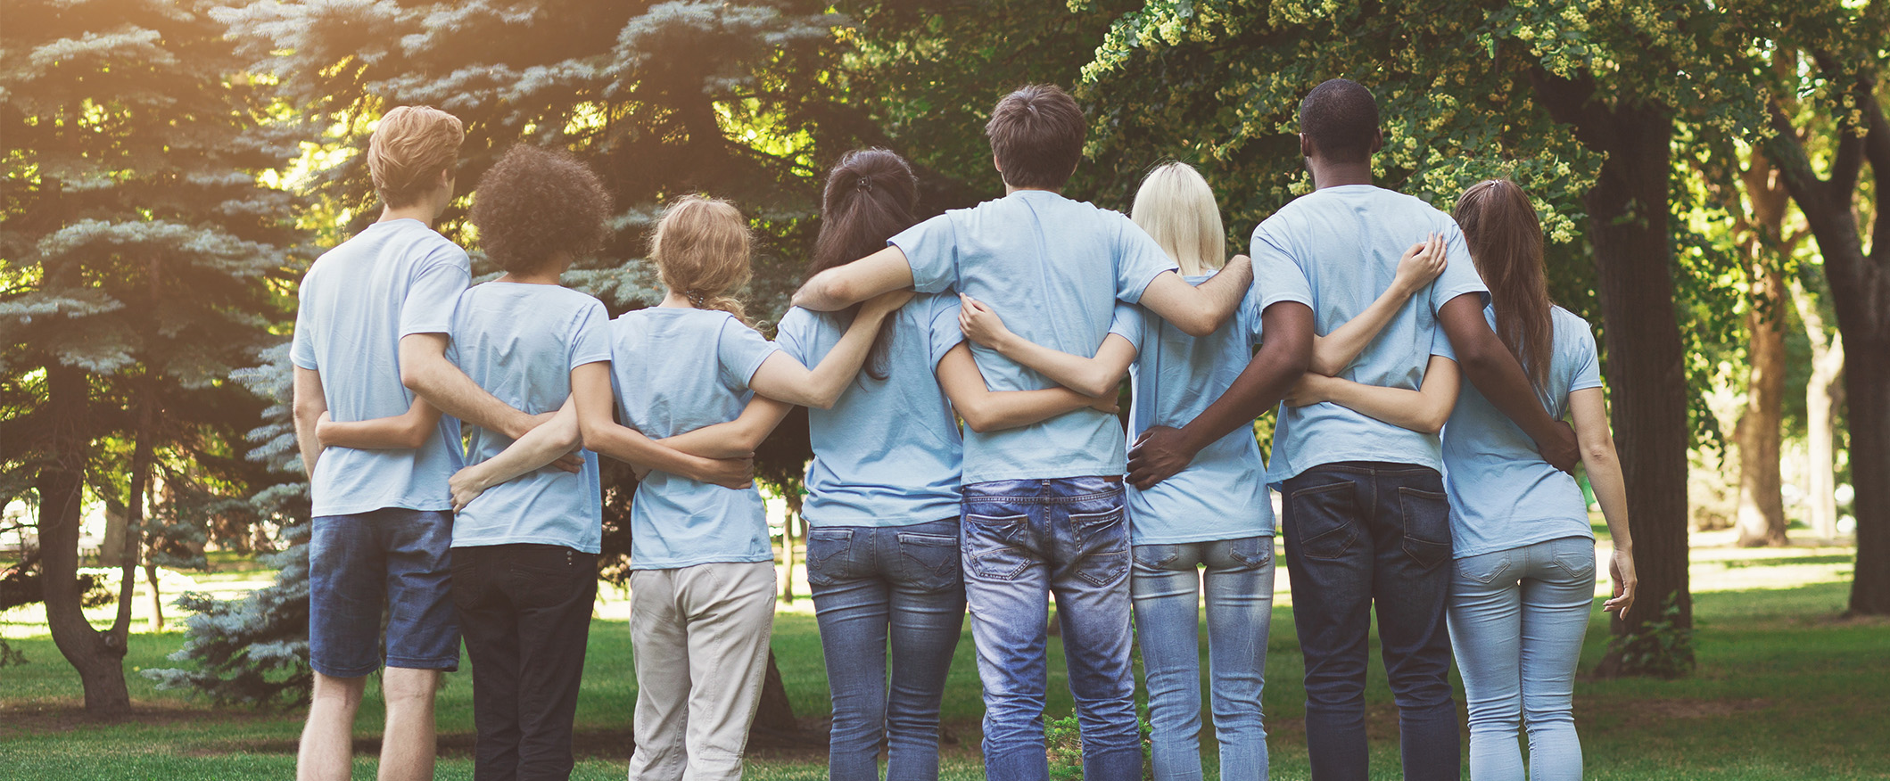
[[[716,308],[748,323],[733,291],[748,284],[748,223],[728,200],[686,195],[663,210],[650,233],[650,261],[669,289],[696,308]]]

